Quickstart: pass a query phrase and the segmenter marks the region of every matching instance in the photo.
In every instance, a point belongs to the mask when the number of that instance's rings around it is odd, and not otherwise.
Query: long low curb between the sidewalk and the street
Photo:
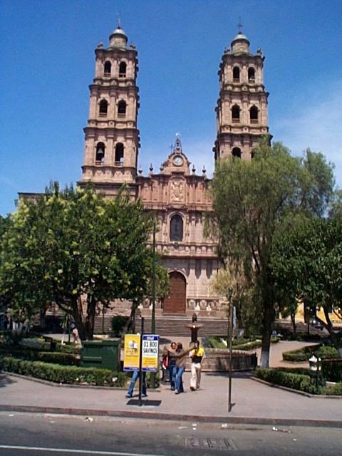
[[[305,427],[338,427],[342,420],[304,420],[296,418],[252,418],[204,415],[177,415],[172,413],[140,412],[125,410],[93,410],[81,408],[38,407],[36,405],[0,405],[0,412],[51,413],[55,415],[106,416],[117,418],[144,418],[145,420],[189,421],[191,423],[221,423],[244,425],[287,425]]]

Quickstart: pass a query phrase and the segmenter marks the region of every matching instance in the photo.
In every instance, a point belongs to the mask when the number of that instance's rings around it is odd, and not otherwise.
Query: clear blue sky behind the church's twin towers
[[[269,127],[294,155],[336,165],[342,187],[342,0],[3,0],[0,15],[0,214],[17,192],[81,177],[94,49],[118,23],[139,56],[144,172],[180,132],[197,172],[212,170],[217,71],[243,31],[266,56]]]

